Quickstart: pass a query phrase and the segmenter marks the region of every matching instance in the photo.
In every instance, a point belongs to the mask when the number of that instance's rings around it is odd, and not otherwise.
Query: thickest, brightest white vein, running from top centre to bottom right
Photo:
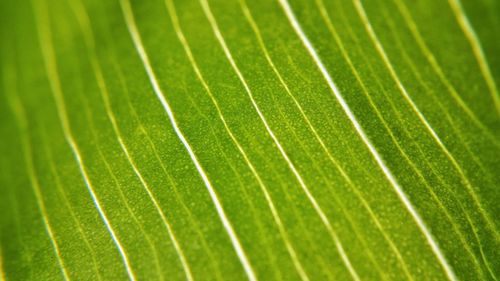
[[[316,53],[316,50],[314,49],[314,47],[312,46],[311,42],[309,41],[309,39],[305,35],[304,31],[300,27],[299,22],[295,18],[295,15],[294,15],[293,11],[291,10],[290,5],[288,4],[287,0],[279,0],[279,1],[281,3],[281,6],[283,7],[283,9],[285,11],[285,14],[288,17],[290,23],[292,24],[295,32],[300,37],[300,39],[302,40],[304,46],[307,48],[309,54],[311,55],[311,57],[314,59],[314,61],[318,65],[318,68],[320,69],[320,71],[323,74],[325,80],[327,81],[328,86],[332,90],[332,93],[335,95],[335,97],[339,101],[340,105],[342,106],[342,109],[344,110],[344,112],[346,113],[346,115],[348,116],[348,118],[350,119],[350,121],[353,123],[356,131],[358,132],[358,134],[362,138],[363,142],[366,144],[366,146],[368,147],[368,149],[372,153],[373,157],[375,158],[375,160],[377,161],[377,163],[381,167],[381,169],[384,172],[384,174],[386,175],[387,179],[391,182],[392,186],[394,187],[394,189],[397,192],[398,196],[400,197],[401,201],[403,202],[403,204],[405,205],[405,207],[407,208],[407,210],[410,212],[410,214],[412,215],[413,219],[417,223],[418,227],[420,228],[420,230],[422,231],[422,233],[426,237],[426,239],[427,239],[429,245],[431,246],[432,250],[434,251],[434,253],[438,257],[440,263],[442,264],[442,266],[446,270],[446,273],[448,274],[448,276],[452,280],[455,280],[456,279],[455,275],[454,275],[453,271],[451,270],[450,266],[448,265],[448,262],[444,258],[444,255],[441,253],[441,250],[439,249],[437,243],[435,242],[434,237],[432,236],[432,234],[428,230],[427,226],[425,225],[424,221],[422,220],[422,218],[420,217],[420,215],[418,214],[418,212],[413,207],[413,204],[410,202],[410,200],[408,199],[407,195],[404,193],[404,191],[402,190],[402,188],[399,186],[399,184],[396,181],[395,177],[392,175],[392,172],[385,165],[382,157],[379,155],[379,153],[377,152],[377,150],[375,149],[375,147],[373,146],[373,144],[371,143],[371,141],[366,136],[363,128],[361,127],[361,125],[359,124],[358,120],[356,119],[356,117],[352,113],[349,105],[345,102],[342,94],[337,89],[337,86],[335,85],[335,83],[332,81],[332,78],[331,78],[330,74],[328,73],[328,70],[323,65],[323,62],[319,58],[319,55]]]

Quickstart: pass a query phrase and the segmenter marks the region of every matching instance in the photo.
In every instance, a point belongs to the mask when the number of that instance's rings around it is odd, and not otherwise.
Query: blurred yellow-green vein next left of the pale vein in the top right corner
[[[453,1],[453,0],[452,0]],[[446,75],[444,74],[441,66],[436,60],[436,57],[432,53],[432,51],[429,49],[427,44],[425,43],[425,40],[423,39],[416,23],[415,20],[413,19],[413,16],[411,15],[410,11],[406,7],[403,1],[401,0],[394,0],[396,3],[396,6],[398,7],[401,15],[405,19],[406,24],[410,28],[410,31],[413,35],[413,37],[416,39],[417,44],[419,45],[420,49],[425,55],[425,58],[427,61],[431,64],[432,68],[438,75],[439,79],[441,82],[445,85],[446,89],[451,93],[452,97],[457,101],[459,106],[463,108],[465,113],[472,119],[472,121],[478,126],[481,130],[484,131],[484,133],[489,137],[492,142],[498,146],[498,140],[491,134],[491,132],[486,128],[486,126],[479,120],[479,118],[476,116],[476,114],[469,108],[469,106],[464,102],[462,97],[458,94],[457,90],[455,87],[451,84],[451,82],[446,78]],[[490,74],[491,75],[491,74]],[[494,95],[494,97],[496,97]],[[497,100],[495,100],[495,105],[497,103]],[[498,106],[498,105],[497,105]],[[500,110],[500,108],[498,108]]]

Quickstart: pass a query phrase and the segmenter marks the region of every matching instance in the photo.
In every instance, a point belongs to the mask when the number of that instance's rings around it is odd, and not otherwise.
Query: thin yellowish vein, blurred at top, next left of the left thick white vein
[[[116,135],[116,138],[118,140],[120,148],[122,149],[123,153],[125,154],[127,161],[129,162],[130,166],[132,167],[135,175],[137,176],[137,178],[141,182],[142,186],[146,190],[146,192],[147,192],[151,202],[153,203],[157,213],[160,215],[161,220],[163,222],[163,225],[167,229],[169,239],[172,241],[174,249],[175,249],[175,251],[176,251],[176,253],[181,261],[183,270],[186,274],[186,278],[188,280],[193,280],[190,267],[186,261],[184,253],[183,253],[183,251],[182,251],[182,249],[181,249],[181,247],[180,247],[180,245],[179,245],[179,243],[174,235],[172,227],[165,216],[164,211],[161,209],[158,201],[156,200],[155,196],[151,192],[151,188],[149,187],[147,182],[144,180],[144,177],[142,176],[141,172],[137,168],[135,161],[130,156],[129,150],[123,141],[121,131],[118,128],[118,124],[116,122],[116,117],[115,117],[113,110],[111,108],[111,104],[109,101],[109,92],[108,92],[108,88],[106,86],[106,82],[104,81],[104,76],[102,74],[101,65],[100,65],[100,63],[97,59],[97,55],[95,53],[95,41],[94,41],[95,37],[94,37],[93,31],[90,27],[90,20],[88,18],[87,12],[85,11],[85,8],[81,5],[80,2],[77,3],[77,2],[73,2],[71,0],[69,2],[70,2],[70,4],[72,4],[71,6],[74,10],[75,15],[77,16],[78,22],[80,24],[80,28],[81,28],[82,33],[84,35],[83,37],[85,40],[85,44],[87,46],[88,55],[90,57],[91,65],[92,65],[92,68],[94,69],[94,74],[95,74],[95,78],[97,80],[99,91],[101,93],[101,97],[104,100],[106,114],[107,114],[109,120],[111,121],[113,131]],[[76,5],[74,5],[74,4],[76,4]],[[161,276],[161,274],[160,274],[160,276]]]

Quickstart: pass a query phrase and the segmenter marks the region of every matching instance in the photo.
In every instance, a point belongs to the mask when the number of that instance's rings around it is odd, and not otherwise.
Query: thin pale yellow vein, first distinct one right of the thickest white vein
[[[495,228],[495,224],[489,218],[489,215],[486,213],[486,211],[483,209],[482,204],[480,203],[479,198],[477,197],[476,193],[474,192],[474,189],[473,189],[471,183],[469,182],[469,179],[467,179],[467,177],[466,177],[463,169],[460,167],[460,165],[458,164],[457,160],[455,159],[455,157],[453,157],[453,155],[448,150],[448,148],[441,141],[441,138],[434,131],[434,129],[432,128],[432,126],[430,125],[430,123],[426,120],[426,118],[422,114],[422,112],[420,112],[420,110],[418,109],[417,105],[415,104],[415,102],[412,100],[412,98],[410,97],[410,95],[406,91],[406,88],[403,86],[401,80],[399,79],[399,76],[396,73],[396,70],[394,69],[394,67],[393,67],[393,65],[392,65],[389,57],[387,56],[387,53],[384,50],[384,47],[382,46],[382,43],[378,39],[375,31],[373,30],[373,27],[370,24],[370,21],[368,19],[368,15],[366,14],[366,11],[365,11],[365,9],[363,7],[363,4],[361,3],[360,0],[353,0],[353,1],[354,1],[355,6],[356,6],[356,10],[358,11],[358,14],[359,14],[360,18],[363,21],[363,24],[365,25],[366,31],[370,35],[370,38],[371,38],[373,44],[375,45],[375,47],[377,49],[377,52],[379,53],[379,55],[383,59],[383,61],[384,61],[385,65],[386,65],[387,69],[389,70],[389,72],[390,72],[393,80],[398,85],[398,88],[400,89],[400,92],[403,94],[403,96],[406,99],[406,101],[411,105],[411,108],[417,114],[418,118],[420,119],[420,121],[422,122],[422,124],[426,127],[426,129],[429,131],[429,133],[434,138],[434,140],[436,141],[436,143],[438,144],[438,146],[441,148],[441,150],[448,157],[448,159],[450,160],[450,162],[452,163],[452,165],[458,171],[459,176],[462,178],[462,180],[463,180],[463,182],[465,184],[465,187],[467,188],[467,191],[469,192],[470,196],[472,197],[474,203],[477,205],[477,207],[478,207],[481,215],[486,220],[486,223],[488,224],[488,226],[491,229],[495,230],[496,229]]]

